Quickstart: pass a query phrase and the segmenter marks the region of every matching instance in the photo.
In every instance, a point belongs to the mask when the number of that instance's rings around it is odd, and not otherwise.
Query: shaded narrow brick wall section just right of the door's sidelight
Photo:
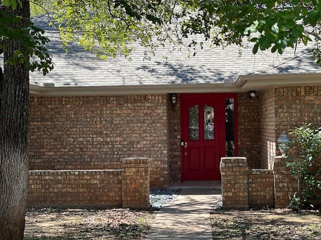
[[[247,157],[251,168],[260,167],[259,100],[238,93],[238,155]]]

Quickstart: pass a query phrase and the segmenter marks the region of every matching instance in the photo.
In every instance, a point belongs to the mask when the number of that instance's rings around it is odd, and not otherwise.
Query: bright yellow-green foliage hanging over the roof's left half
[[[163,45],[161,24],[172,10],[167,8],[167,1],[161,0],[83,0],[77,4],[56,0],[54,5],[58,9],[54,18],[64,45],[78,41],[85,50],[102,58],[114,57],[117,52],[128,56],[134,41],[150,51]]]

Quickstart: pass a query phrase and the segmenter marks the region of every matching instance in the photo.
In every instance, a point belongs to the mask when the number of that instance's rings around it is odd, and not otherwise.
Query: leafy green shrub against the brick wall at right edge
[[[303,124],[290,134],[294,137],[294,151],[297,154],[294,161],[288,161],[286,165],[297,179],[298,188],[289,207],[300,209],[311,196],[316,195],[315,190],[321,190],[321,181],[317,180],[321,171],[313,169],[316,158],[321,156],[321,127],[312,129],[311,124]]]

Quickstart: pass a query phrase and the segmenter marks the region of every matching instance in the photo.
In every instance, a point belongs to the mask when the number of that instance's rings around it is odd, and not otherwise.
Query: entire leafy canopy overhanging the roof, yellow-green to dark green
[[[128,42],[139,40],[152,50],[169,40],[188,47],[253,42],[258,49],[282,54],[286,47],[307,45],[314,38],[319,50],[321,2],[299,0],[56,0],[55,15],[65,44],[78,41],[106,57],[128,55]],[[196,34],[204,36],[197,42]],[[157,38],[152,38],[156,36]],[[151,41],[153,39],[153,41]],[[195,53],[194,53],[195,54]]]

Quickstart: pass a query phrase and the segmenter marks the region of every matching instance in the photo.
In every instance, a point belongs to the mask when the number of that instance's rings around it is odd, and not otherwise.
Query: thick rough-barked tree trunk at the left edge
[[[23,16],[16,26],[29,20],[29,1],[9,13]],[[12,40],[4,60],[24,48]],[[24,64],[0,68],[0,240],[23,239],[28,185],[29,72]]]

